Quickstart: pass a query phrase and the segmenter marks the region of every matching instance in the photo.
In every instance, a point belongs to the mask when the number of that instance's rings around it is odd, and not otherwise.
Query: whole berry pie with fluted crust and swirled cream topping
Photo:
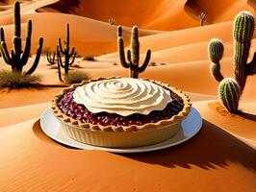
[[[64,88],[52,102],[61,129],[95,146],[162,142],[181,129],[191,104],[182,91],[152,80],[109,78]]]

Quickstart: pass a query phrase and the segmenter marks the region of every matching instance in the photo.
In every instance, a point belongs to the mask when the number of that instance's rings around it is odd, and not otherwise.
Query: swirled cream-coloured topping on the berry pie
[[[163,110],[171,102],[164,87],[145,80],[117,78],[90,82],[73,93],[74,101],[92,113],[108,112],[121,116],[148,114]]]

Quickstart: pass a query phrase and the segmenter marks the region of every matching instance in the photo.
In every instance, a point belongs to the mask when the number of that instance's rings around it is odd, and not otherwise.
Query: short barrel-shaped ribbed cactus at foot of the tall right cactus
[[[238,112],[241,96],[240,85],[233,78],[223,79],[218,86],[218,97],[225,108],[231,113]]]

